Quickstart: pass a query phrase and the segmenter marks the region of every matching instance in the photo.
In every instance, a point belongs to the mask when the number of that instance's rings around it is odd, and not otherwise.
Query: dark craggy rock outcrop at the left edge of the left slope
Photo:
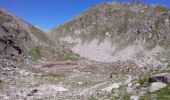
[[[25,55],[31,41],[28,31],[24,29],[13,15],[0,10],[0,54],[12,58]]]

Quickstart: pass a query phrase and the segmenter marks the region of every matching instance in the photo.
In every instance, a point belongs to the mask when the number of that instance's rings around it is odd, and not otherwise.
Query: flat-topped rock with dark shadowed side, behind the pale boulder
[[[168,83],[168,82],[170,82],[170,74],[169,73],[156,74],[149,78],[149,82],[151,82],[151,83],[153,83],[153,82]]]

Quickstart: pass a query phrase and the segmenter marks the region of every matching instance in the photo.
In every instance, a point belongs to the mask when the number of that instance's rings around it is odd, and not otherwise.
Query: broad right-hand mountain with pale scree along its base
[[[169,62],[170,10],[161,5],[96,4],[50,33],[95,61],[133,60],[139,66]]]

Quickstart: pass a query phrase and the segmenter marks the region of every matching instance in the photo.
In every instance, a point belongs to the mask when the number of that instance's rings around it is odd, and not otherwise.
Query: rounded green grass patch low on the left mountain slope
[[[29,52],[28,55],[31,56],[31,58],[36,61],[38,59],[40,59],[42,57],[41,54],[41,50],[39,47],[32,47]]]

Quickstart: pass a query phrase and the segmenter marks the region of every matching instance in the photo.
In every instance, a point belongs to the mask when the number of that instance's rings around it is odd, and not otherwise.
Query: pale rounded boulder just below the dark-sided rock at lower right
[[[149,88],[149,92],[155,92],[157,90],[160,90],[162,88],[165,88],[167,86],[167,84],[162,83],[162,82],[154,82],[151,84],[150,88]]]

